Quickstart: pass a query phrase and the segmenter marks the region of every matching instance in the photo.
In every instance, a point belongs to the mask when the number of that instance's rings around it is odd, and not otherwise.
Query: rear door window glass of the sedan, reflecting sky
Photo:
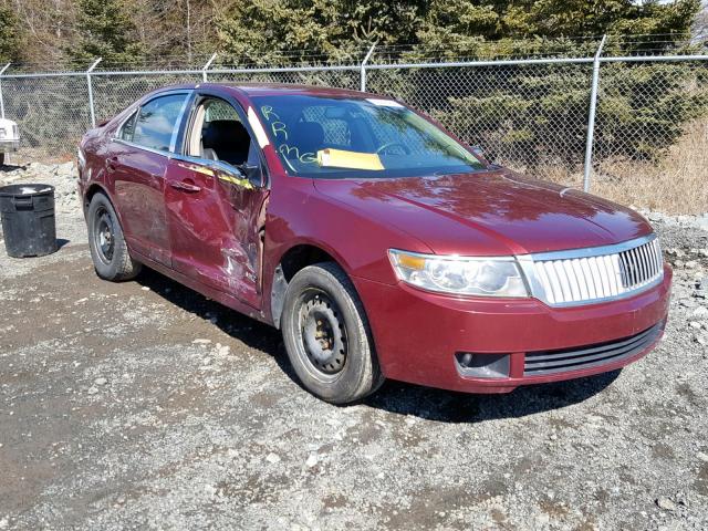
[[[152,149],[169,152],[187,97],[188,94],[169,94],[143,105],[134,125],[133,142]]]

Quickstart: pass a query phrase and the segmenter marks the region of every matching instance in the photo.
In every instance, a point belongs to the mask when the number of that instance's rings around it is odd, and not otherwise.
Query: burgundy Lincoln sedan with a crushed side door
[[[155,91],[81,143],[100,277],[142,266],[282,330],[333,402],[384,378],[506,393],[632,363],[671,271],[636,212],[489,164],[384,96]]]

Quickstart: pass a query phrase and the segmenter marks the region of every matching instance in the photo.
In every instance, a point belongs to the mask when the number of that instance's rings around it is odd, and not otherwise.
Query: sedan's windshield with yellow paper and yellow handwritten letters
[[[291,175],[391,178],[485,168],[465,146],[393,100],[252,100]]]

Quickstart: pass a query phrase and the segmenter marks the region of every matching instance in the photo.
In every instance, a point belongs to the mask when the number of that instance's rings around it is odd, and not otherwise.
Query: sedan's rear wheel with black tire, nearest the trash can
[[[96,274],[113,282],[137,277],[142,264],[131,258],[118,217],[106,196],[101,192],[93,196],[86,220],[88,248]]]

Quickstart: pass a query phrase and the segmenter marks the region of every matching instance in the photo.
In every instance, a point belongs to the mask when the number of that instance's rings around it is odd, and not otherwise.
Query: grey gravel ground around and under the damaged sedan
[[[277,331],[157,273],[98,280],[71,174],[0,174],[58,186],[63,243],[0,250],[0,530],[708,529],[705,217],[650,215],[671,314],[621,373],[335,407]]]

